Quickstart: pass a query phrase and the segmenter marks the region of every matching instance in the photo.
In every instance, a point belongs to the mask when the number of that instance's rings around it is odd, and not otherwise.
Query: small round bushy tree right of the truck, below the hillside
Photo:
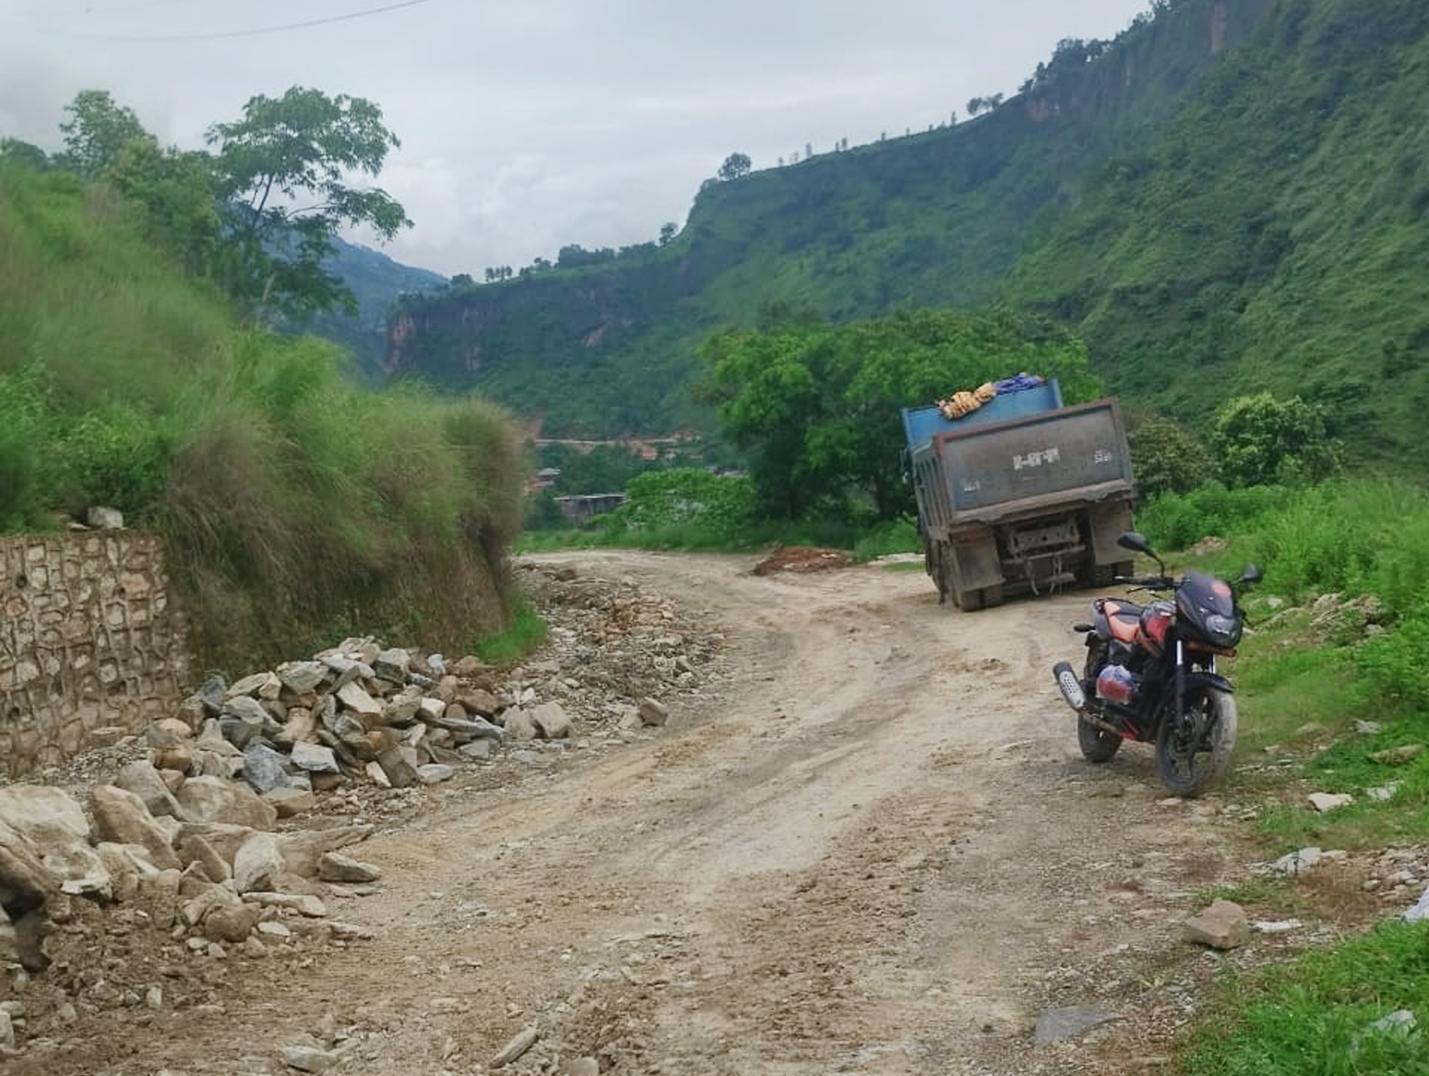
[[[1325,410],[1299,396],[1228,400],[1210,444],[1229,486],[1320,482],[1340,467],[1342,446],[1325,430]]]

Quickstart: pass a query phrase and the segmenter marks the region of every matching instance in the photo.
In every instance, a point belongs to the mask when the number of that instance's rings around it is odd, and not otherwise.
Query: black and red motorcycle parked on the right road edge
[[[1053,667],[1057,687],[1077,714],[1077,744],[1089,762],[1110,762],[1125,740],[1156,744],[1156,772],[1176,796],[1200,796],[1230,764],[1236,744],[1236,700],[1218,657],[1233,657],[1245,630],[1240,593],[1260,582],[1246,567],[1235,582],[1202,572],[1180,579],[1136,532],[1122,549],[1152,557],[1160,574],[1117,576],[1132,590],[1169,594],[1139,606],[1117,597],[1092,603],[1077,676],[1070,662]]]

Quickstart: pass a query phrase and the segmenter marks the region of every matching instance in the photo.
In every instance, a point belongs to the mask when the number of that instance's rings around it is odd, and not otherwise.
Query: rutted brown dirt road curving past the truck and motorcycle
[[[343,910],[374,940],[233,969],[51,1076],[283,1072],[304,1035],[340,1072],[489,1072],[524,1027],[502,1072],[1162,1070],[1213,963],[1177,923],[1233,855],[1222,800],[1163,803],[1143,749],[1076,753],[1049,667],[1085,594],[962,614],[920,572],[559,560],[722,624],[720,693],[379,833],[383,890]],[[1119,1019],[1033,1045],[1073,1005]]]

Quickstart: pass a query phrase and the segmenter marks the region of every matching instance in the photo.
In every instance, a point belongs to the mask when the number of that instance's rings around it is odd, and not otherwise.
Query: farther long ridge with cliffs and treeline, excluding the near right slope
[[[1182,0],[1099,56],[1055,57],[1003,107],[933,131],[709,181],[664,247],[592,269],[409,302],[396,372],[479,384],[547,429],[670,429],[694,350],[772,300],[836,319],[997,297],[1033,226],[1079,204],[1109,156],[1146,146],[1248,40],[1270,0]]]

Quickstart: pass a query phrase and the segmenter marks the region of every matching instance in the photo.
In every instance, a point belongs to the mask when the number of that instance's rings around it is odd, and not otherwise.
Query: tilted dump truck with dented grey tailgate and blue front
[[[940,602],[972,612],[1015,593],[1130,574],[1132,462],[1116,400],[1062,404],[1055,380],[960,419],[903,409],[923,564]]]

